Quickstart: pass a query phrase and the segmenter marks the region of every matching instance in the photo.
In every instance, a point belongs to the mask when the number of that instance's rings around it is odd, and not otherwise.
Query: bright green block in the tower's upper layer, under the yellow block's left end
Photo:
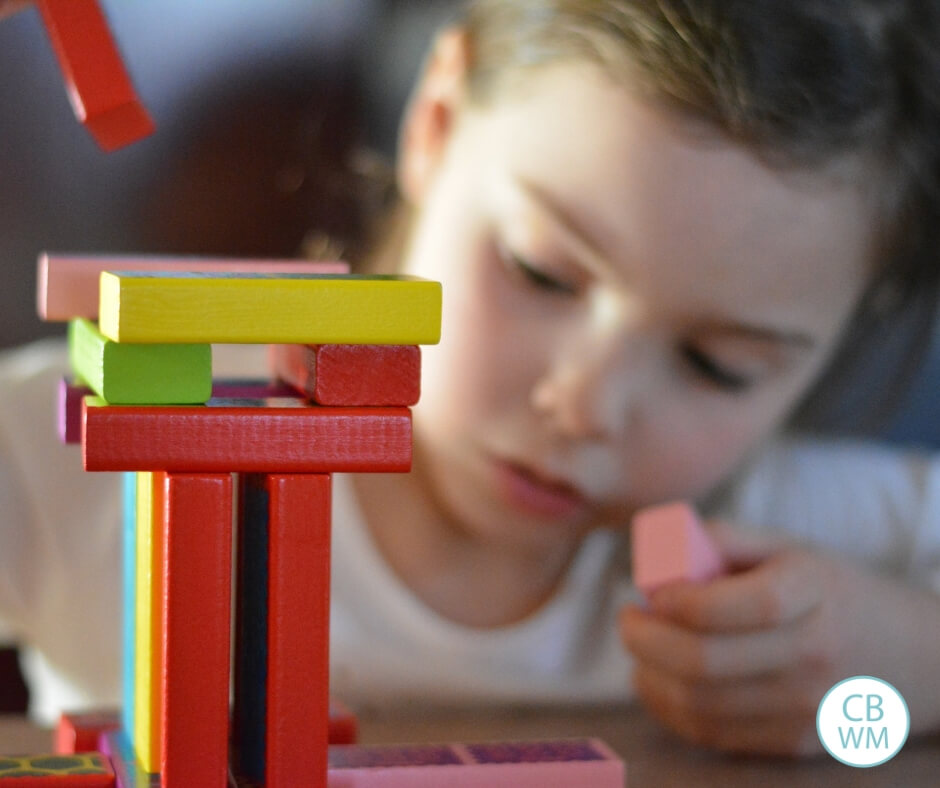
[[[127,344],[69,323],[72,371],[111,405],[192,405],[212,396],[212,346]]]

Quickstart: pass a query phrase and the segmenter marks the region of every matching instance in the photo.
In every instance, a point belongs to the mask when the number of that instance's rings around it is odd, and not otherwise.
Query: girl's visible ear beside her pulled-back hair
[[[434,42],[402,119],[398,142],[398,188],[418,202],[440,160],[464,96],[467,34],[448,28]]]

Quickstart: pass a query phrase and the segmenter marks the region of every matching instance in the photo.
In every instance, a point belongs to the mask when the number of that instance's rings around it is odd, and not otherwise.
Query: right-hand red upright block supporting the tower
[[[325,788],[329,735],[330,477],[272,474],[266,788]]]

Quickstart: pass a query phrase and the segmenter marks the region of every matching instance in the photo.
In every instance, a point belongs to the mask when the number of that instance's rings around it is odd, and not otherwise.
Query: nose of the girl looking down
[[[564,343],[532,388],[533,409],[565,437],[604,440],[622,435],[648,379],[648,340],[637,321],[595,320]]]

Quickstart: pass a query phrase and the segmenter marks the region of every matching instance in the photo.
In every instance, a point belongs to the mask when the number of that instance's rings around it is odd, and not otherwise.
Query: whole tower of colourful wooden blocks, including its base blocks
[[[330,474],[409,470],[441,292],[282,265],[40,259],[40,315],[70,321],[62,437],[86,470],[125,473],[124,706],[96,728],[118,785],[622,786],[595,740],[328,764]],[[213,380],[213,343],[269,344],[276,379]]]

